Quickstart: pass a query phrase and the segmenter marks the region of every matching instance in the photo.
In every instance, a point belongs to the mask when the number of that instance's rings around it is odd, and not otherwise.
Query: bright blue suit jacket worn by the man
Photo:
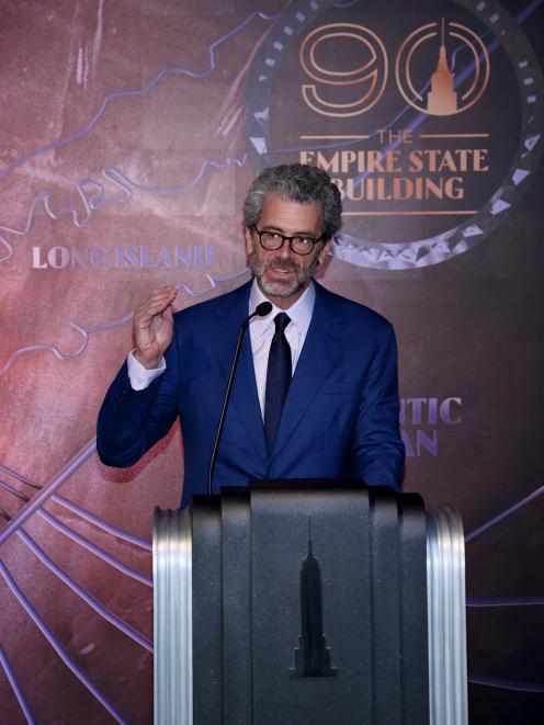
[[[218,486],[253,478],[348,478],[398,488],[405,451],[398,427],[397,351],[389,322],[316,284],[308,333],[269,452],[246,333],[214,474]],[[126,363],[98,422],[98,451],[131,466],[179,416],[185,476],[182,506],[206,492],[207,467],[251,283],[174,315],[166,372],[131,388]]]

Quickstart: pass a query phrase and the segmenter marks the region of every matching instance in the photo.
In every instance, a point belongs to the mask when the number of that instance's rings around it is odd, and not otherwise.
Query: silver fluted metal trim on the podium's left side
[[[155,725],[193,723],[193,587],[191,517],[155,509]]]

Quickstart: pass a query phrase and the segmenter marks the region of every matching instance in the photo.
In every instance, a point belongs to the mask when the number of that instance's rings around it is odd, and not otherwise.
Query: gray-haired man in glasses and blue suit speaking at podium
[[[253,281],[172,315],[172,286],[134,315],[136,349],[99,416],[98,451],[129,466],[180,417],[182,507],[207,489],[220,405],[242,320],[246,335],[217,455],[214,490],[262,478],[361,478],[398,488],[397,353],[383,317],[311,280],[340,228],[329,175],[294,163],[265,169],[245,203]]]

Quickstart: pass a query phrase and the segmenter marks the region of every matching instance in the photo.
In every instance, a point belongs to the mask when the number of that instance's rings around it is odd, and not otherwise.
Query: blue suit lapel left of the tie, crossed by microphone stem
[[[220,315],[215,331],[214,349],[224,376],[225,386],[227,385],[230,373],[240,326],[248,316],[250,288],[251,282],[233,292],[230,299],[225,304],[225,314]],[[243,335],[229,406],[236,409],[257,452],[265,461],[268,458],[267,440],[264,438],[264,427],[262,424],[259,396],[257,393],[249,330],[246,330]]]

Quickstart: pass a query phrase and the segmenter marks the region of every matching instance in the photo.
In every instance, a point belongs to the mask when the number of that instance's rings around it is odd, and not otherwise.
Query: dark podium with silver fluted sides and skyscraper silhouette
[[[157,725],[465,725],[464,539],[358,482],[155,512]]]

